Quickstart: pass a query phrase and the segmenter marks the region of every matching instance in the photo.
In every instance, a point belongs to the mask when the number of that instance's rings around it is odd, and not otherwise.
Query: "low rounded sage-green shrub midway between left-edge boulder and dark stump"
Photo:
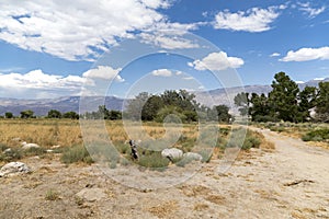
[[[67,164],[75,162],[84,162],[90,164],[93,162],[88,150],[81,145],[68,147],[67,150],[63,152],[60,161]]]

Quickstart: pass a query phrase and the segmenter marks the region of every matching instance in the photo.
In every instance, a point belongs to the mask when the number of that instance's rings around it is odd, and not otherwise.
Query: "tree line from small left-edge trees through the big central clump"
[[[197,120],[216,120],[220,123],[229,123],[232,116],[229,114],[229,108],[226,105],[216,105],[206,107],[201,105],[195,100],[195,95],[185,90],[164,91],[160,95],[139,93],[135,99],[131,100],[125,112],[109,111],[105,105],[100,105],[95,112],[87,112],[82,115],[76,112],[60,113],[57,110],[50,110],[46,118],[71,118],[71,119],[122,119],[162,123],[168,115],[178,116],[183,123]],[[5,113],[5,118],[13,118],[13,114]],[[21,112],[21,118],[35,118],[33,111]]]

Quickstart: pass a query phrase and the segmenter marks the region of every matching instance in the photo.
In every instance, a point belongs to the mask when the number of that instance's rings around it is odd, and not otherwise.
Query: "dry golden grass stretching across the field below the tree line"
[[[150,139],[161,139],[167,136],[167,139],[174,139],[173,146],[184,152],[207,152],[206,155],[213,154],[213,159],[219,158],[226,147],[225,139],[229,136],[231,126],[220,125],[217,137],[214,137],[212,131],[200,134],[198,128],[197,124],[183,124],[180,127],[174,124],[163,126],[159,123],[143,123],[140,125],[122,120],[1,119],[0,143],[11,148],[20,148],[22,141],[37,143],[43,148],[54,146],[65,148],[82,143],[93,147],[98,143],[109,146],[110,139],[120,152],[126,153],[129,149],[124,143],[129,139],[141,140],[141,145],[145,146],[154,146]],[[266,142],[261,134],[254,132],[253,135],[261,139],[261,148],[269,150],[274,148],[273,143]],[[218,140],[217,148],[214,148],[216,142],[209,140],[213,138]],[[175,141],[177,139],[179,140]],[[201,145],[196,145],[196,140],[200,140]]]

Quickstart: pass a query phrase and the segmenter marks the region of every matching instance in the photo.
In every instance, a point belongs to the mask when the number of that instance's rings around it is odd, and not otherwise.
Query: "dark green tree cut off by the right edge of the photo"
[[[329,82],[319,83],[316,113],[319,120],[329,122]]]

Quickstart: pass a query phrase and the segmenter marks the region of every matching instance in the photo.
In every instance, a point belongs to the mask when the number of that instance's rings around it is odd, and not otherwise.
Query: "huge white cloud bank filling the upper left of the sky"
[[[0,39],[67,60],[93,60],[116,37],[170,25],[166,0],[0,1]],[[177,24],[178,26],[179,24]]]

